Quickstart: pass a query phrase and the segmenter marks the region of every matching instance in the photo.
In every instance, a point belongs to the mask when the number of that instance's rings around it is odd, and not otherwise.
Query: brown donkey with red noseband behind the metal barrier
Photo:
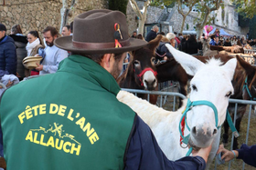
[[[148,43],[148,45],[132,52],[132,59],[117,83],[122,88],[141,90],[157,90],[157,72],[155,68],[155,48],[159,45],[162,35]],[[138,97],[147,99],[147,95],[138,94]],[[150,103],[156,104],[157,95],[150,95]]]

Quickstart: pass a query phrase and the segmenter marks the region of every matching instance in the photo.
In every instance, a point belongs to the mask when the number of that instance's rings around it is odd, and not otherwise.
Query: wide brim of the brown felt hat
[[[124,52],[133,51],[139,49],[147,42],[141,39],[130,38],[130,45],[119,47],[119,48],[101,48],[101,49],[89,49],[89,48],[77,48],[73,46],[72,35],[61,36],[54,41],[54,44],[61,49],[69,52],[78,52],[82,54],[119,54]]]

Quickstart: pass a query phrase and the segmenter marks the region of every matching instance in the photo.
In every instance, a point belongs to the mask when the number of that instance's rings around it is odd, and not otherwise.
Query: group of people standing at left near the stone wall
[[[29,75],[54,73],[59,62],[68,57],[67,51],[59,49],[53,43],[59,37],[57,29],[53,26],[48,26],[42,31],[43,41],[37,30],[24,35],[20,25],[12,26],[10,35],[6,35],[6,31],[5,25],[0,24],[0,70],[5,71],[5,75],[16,75],[19,80],[23,80]],[[70,25],[64,26],[62,35],[70,34]],[[28,70],[23,65],[23,59],[35,55],[42,56],[42,60],[35,69]]]

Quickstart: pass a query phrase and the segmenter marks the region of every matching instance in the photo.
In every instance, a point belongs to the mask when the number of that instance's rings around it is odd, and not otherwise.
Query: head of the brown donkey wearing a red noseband
[[[148,45],[133,51],[133,74],[137,85],[146,90],[155,90],[157,86],[155,68],[155,48],[159,45],[161,35],[150,41]]]

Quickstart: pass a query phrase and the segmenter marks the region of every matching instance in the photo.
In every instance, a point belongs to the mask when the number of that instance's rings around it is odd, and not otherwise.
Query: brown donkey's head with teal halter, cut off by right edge
[[[242,98],[244,100],[256,100],[256,67],[244,61],[239,55],[236,55],[236,57],[245,77],[242,86]]]

